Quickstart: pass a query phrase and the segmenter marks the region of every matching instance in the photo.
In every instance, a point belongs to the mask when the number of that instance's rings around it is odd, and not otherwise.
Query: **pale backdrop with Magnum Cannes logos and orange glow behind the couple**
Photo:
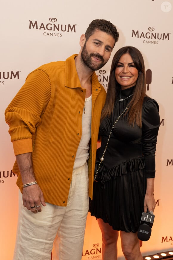
[[[4,110],[32,70],[78,53],[81,34],[92,20],[99,18],[115,24],[120,37],[109,62],[97,71],[98,80],[107,89],[115,52],[123,46],[135,46],[145,60],[147,95],[160,108],[155,222],[151,238],[142,243],[141,252],[145,256],[173,249],[172,1],[11,0],[1,1],[0,14],[0,259],[13,258],[18,216],[17,177],[12,173],[15,156]],[[101,244],[97,221],[88,214],[82,260],[101,259]],[[118,259],[124,259],[120,239]]]

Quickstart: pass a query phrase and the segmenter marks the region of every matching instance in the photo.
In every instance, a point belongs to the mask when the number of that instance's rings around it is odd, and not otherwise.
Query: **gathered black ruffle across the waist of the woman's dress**
[[[101,183],[101,188],[104,188],[104,184],[106,181],[113,180],[117,176],[122,176],[123,174],[135,172],[144,168],[145,163],[143,157],[138,157],[125,162],[121,162],[120,164],[115,165],[108,170],[106,170],[104,168],[104,165],[102,165],[98,173],[98,181]]]

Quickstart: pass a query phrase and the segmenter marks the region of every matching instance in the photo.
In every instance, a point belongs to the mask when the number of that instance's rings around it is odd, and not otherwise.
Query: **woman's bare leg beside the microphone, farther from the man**
[[[137,232],[120,231],[121,247],[126,260],[142,260]]]

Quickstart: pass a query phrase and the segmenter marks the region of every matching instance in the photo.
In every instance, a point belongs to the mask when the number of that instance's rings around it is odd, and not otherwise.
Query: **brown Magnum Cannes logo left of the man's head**
[[[55,24],[57,22],[56,18],[49,18],[48,23],[39,23],[38,21],[31,21],[29,20],[29,29],[36,29],[36,30],[48,30],[48,31],[55,31],[55,32],[76,32],[76,24]],[[46,34],[44,34],[46,35]],[[49,35],[49,34],[48,34]],[[52,35],[57,36],[57,35]],[[61,37],[61,35],[59,35]]]

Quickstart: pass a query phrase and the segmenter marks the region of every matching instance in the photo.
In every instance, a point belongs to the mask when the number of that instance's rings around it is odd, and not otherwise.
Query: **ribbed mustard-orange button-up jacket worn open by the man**
[[[46,202],[66,206],[75,155],[82,134],[85,89],[75,56],[45,64],[31,72],[5,111],[15,155],[32,152],[35,179]],[[92,74],[92,125],[89,151],[89,196],[92,198],[95,153],[106,92]],[[21,175],[13,172],[22,192]]]

